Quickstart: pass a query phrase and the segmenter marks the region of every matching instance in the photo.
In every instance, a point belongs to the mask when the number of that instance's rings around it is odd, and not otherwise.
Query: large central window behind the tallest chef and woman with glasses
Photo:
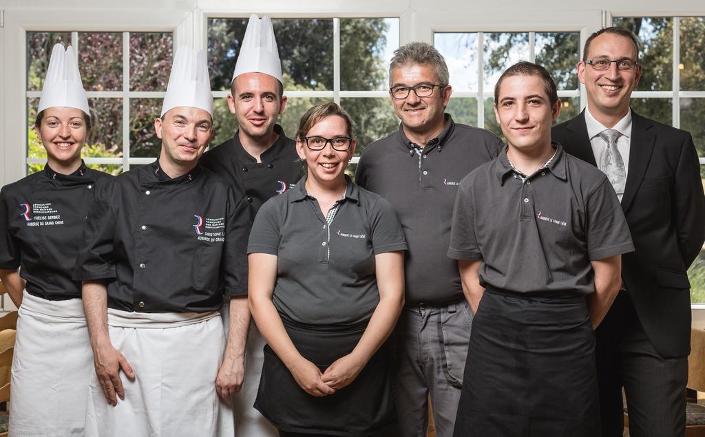
[[[272,20],[288,97],[279,123],[293,137],[313,104],[336,101],[357,123],[357,156],[370,142],[396,130],[388,97],[387,68],[399,47],[398,18],[295,18]],[[216,97],[213,145],[233,137],[237,121],[228,110],[235,61],[246,18],[209,18],[211,86]],[[349,171],[354,171],[354,163]]]

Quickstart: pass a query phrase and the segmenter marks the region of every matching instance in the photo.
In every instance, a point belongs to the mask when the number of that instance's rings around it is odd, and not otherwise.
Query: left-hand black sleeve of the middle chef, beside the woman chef
[[[93,206],[83,228],[82,243],[73,269],[74,281],[116,278],[113,246],[115,215],[107,187],[98,185]]]

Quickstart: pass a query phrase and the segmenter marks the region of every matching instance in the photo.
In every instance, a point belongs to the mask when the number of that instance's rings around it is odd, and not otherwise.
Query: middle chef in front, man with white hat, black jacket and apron
[[[237,347],[223,357],[219,310],[224,297],[235,312],[247,307],[252,216],[243,195],[198,165],[212,111],[205,54],[181,47],[154,121],[159,159],[96,195],[74,272],[95,363],[87,436],[234,433]]]

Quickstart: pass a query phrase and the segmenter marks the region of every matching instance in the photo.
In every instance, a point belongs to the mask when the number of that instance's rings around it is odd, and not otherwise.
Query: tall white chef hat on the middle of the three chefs
[[[213,116],[211,80],[203,50],[196,52],[190,47],[181,46],[176,51],[166,85],[164,104],[161,105],[161,117],[177,106],[203,109]]]

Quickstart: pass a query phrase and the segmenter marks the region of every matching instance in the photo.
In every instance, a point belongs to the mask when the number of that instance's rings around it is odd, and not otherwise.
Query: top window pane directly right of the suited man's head
[[[613,25],[635,32],[642,44],[637,90],[673,89],[673,18],[614,18]]]

